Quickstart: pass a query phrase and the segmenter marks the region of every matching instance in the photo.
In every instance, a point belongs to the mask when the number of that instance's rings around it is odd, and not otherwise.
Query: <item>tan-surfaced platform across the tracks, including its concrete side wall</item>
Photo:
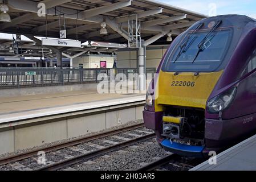
[[[144,105],[144,93],[0,97],[0,155],[142,121]]]

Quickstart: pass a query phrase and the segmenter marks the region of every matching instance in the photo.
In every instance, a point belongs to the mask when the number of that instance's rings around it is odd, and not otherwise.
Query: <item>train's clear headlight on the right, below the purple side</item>
[[[234,87],[208,101],[207,110],[209,113],[218,113],[225,110],[234,100],[237,88]]]

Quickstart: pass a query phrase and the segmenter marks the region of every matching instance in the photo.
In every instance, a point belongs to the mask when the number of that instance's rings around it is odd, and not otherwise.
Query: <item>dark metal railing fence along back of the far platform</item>
[[[86,84],[99,82],[98,75],[104,74],[108,80],[113,69],[38,69],[38,68],[1,68],[0,89],[32,86],[56,86],[67,84]],[[154,74],[155,68],[147,68],[147,73]],[[117,68],[115,75],[137,73],[133,68]]]

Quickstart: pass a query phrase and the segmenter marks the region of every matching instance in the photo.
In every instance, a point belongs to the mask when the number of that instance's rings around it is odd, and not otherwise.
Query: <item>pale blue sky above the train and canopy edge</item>
[[[205,15],[242,14],[256,18],[256,0],[156,0]]]

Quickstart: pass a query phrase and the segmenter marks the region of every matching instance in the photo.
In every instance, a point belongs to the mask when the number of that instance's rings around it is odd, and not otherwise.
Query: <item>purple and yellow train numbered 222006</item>
[[[256,131],[255,40],[245,15],[202,19],[173,40],[143,111],[162,148],[207,158]]]

